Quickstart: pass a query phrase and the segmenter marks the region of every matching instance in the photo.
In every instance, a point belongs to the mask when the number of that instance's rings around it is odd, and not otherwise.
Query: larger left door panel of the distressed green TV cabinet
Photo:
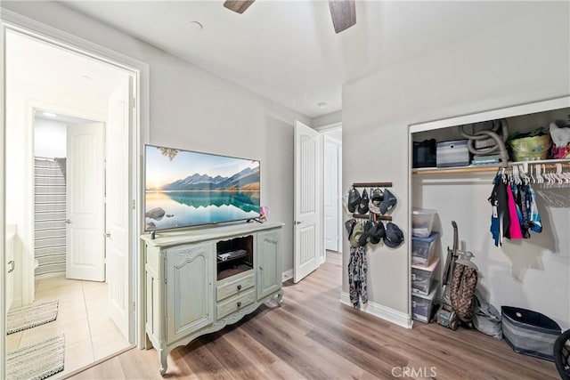
[[[167,342],[213,322],[214,245],[167,251]]]

